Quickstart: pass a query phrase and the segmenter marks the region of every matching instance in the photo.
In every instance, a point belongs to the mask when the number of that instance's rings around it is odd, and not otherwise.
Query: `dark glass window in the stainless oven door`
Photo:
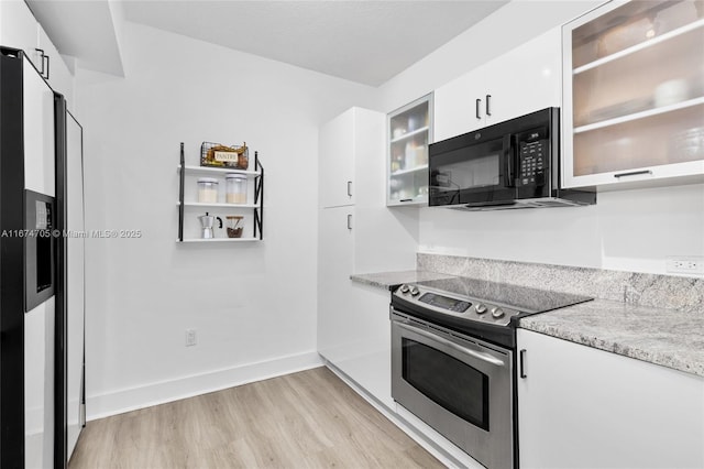
[[[488,377],[469,364],[402,338],[403,378],[452,414],[488,432]]]

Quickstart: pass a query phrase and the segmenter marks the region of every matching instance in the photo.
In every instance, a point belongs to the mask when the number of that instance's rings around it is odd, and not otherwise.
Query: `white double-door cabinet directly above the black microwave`
[[[560,106],[560,29],[435,91],[435,141]]]

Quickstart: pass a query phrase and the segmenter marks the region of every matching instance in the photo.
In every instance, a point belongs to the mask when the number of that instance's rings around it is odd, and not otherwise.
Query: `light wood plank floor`
[[[321,367],[89,422],[68,467],[443,466]]]

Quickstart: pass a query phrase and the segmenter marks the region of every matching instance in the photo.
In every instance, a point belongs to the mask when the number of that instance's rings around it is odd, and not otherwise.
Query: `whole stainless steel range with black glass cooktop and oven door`
[[[515,468],[518,319],[588,299],[465,277],[400,285],[392,396],[486,468]]]

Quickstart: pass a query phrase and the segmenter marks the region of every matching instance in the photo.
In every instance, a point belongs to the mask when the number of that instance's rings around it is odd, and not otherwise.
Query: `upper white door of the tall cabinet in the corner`
[[[320,206],[354,205],[354,114],[352,108],[320,129]]]

